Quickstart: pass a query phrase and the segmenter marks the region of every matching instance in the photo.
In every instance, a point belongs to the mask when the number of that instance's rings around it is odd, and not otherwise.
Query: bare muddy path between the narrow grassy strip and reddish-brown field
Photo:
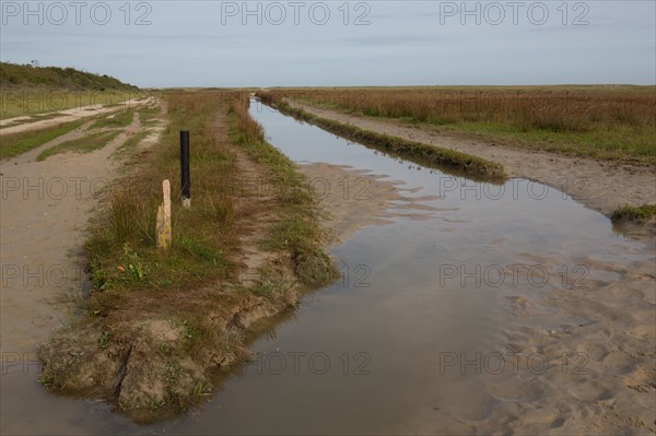
[[[655,167],[526,151],[456,138],[441,132],[435,127],[409,126],[394,120],[317,108],[297,102],[290,103],[316,116],[361,129],[453,149],[497,162],[505,166],[511,177],[532,179],[554,187],[607,216],[622,204],[641,205],[656,201]]]

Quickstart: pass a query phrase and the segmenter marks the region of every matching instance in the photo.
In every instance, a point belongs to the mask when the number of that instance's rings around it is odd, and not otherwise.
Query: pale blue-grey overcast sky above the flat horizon
[[[654,84],[655,4],[2,0],[0,58],[142,87]]]

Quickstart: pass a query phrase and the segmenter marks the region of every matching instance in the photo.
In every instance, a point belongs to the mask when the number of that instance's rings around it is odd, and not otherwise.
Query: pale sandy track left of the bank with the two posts
[[[117,162],[109,156],[140,129],[136,117],[103,149],[36,162],[43,150],[84,135],[87,126],[0,163],[2,353],[34,352],[69,320],[72,303],[84,293],[87,273],[81,250],[89,212],[114,177]]]

